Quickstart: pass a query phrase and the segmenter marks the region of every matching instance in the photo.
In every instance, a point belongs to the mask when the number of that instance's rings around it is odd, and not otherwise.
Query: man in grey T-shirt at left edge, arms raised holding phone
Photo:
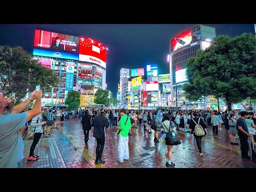
[[[27,100],[9,108],[10,113],[6,115],[4,115],[4,111],[10,106],[12,97],[6,99],[5,94],[6,92],[0,90],[0,135],[2,135],[0,138],[0,167],[23,167],[21,161],[24,143],[20,129],[26,122],[41,113],[42,91],[35,91],[35,94],[31,94]],[[21,113],[35,99],[33,108]]]

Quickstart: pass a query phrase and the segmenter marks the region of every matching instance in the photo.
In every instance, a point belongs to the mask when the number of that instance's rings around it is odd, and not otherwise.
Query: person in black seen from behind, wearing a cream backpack
[[[191,133],[194,134],[194,137],[196,139],[196,145],[198,148],[197,155],[202,157],[203,153],[202,153],[202,147],[201,147],[201,139],[205,135],[207,135],[207,131],[206,131],[207,125],[205,124],[202,118],[199,118],[198,113],[195,112],[193,116],[194,118],[191,118],[191,121],[189,123],[189,129],[191,129]]]

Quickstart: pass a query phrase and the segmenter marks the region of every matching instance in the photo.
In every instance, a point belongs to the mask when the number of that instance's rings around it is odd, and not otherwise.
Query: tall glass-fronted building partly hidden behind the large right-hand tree
[[[188,101],[182,90],[184,84],[188,83],[186,78],[186,62],[190,57],[197,56],[197,50],[205,50],[210,46],[212,39],[216,36],[215,28],[197,25],[191,27],[170,41],[170,83],[172,106],[183,108],[215,108],[217,100],[213,97],[206,97],[198,101]],[[216,101],[215,101],[216,100]],[[223,101],[220,100],[221,105]],[[215,106],[216,105],[216,106]],[[217,106],[218,109],[218,106]]]

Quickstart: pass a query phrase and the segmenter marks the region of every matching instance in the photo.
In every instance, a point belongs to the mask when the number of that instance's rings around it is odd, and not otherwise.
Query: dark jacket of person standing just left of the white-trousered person
[[[95,138],[105,138],[105,127],[108,128],[108,119],[102,115],[97,115],[94,117],[92,126],[94,126],[93,137]]]

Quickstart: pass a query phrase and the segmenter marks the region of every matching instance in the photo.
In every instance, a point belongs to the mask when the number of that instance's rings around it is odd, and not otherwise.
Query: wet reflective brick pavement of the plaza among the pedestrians
[[[212,134],[212,126],[207,128],[208,135],[202,139],[203,156],[197,155],[196,140],[193,135],[178,131],[181,144],[173,147],[172,162],[175,168],[251,168],[256,162],[241,157],[240,146],[231,145],[228,130],[222,128],[218,135]],[[105,164],[94,164],[95,138],[93,129],[89,133],[89,141],[84,143],[82,124],[78,119],[55,122],[51,130],[53,136],[42,135],[35,154],[38,161],[27,162],[32,139],[25,137],[23,167],[26,168],[166,168],[165,154],[159,154],[154,143],[154,130],[149,134],[143,130],[132,128],[129,136],[129,161],[119,163],[118,140],[115,140],[115,128],[106,129],[105,147],[102,159]],[[236,140],[239,143],[239,139]],[[166,168],[167,169],[167,168]]]

